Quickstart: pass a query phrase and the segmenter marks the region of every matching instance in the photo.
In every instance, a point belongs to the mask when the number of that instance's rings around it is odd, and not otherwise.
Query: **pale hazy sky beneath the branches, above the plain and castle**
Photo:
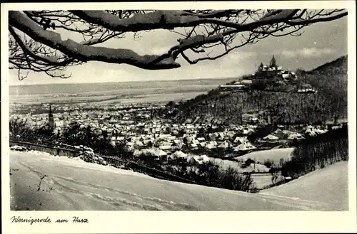
[[[180,80],[198,78],[238,77],[253,73],[260,62],[268,63],[275,55],[278,65],[294,70],[303,68],[310,70],[347,54],[347,17],[336,21],[315,23],[302,30],[302,36],[285,36],[281,38],[264,38],[256,44],[245,46],[229,53],[218,60],[207,60],[189,65],[178,59],[181,68],[172,70],[142,70],[131,65],[119,65],[99,62],[89,62],[84,65],[69,68],[69,79],[51,78],[41,73],[29,73],[29,77],[19,81],[17,72],[10,71],[10,85],[28,85],[40,83],[96,83],[112,81],[137,80]],[[110,48],[130,48],[141,55],[164,53],[176,45],[178,35],[157,30],[141,33],[140,41],[133,41],[128,34],[126,38],[107,41],[101,46]],[[72,35],[63,35],[62,39]]]

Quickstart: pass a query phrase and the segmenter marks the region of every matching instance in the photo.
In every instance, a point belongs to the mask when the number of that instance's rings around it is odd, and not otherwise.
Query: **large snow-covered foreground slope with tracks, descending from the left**
[[[305,201],[270,194],[244,193],[164,181],[111,166],[89,164],[49,154],[11,151],[10,169],[11,210],[291,211],[331,209],[331,204],[321,201]],[[323,193],[323,191],[316,192]]]

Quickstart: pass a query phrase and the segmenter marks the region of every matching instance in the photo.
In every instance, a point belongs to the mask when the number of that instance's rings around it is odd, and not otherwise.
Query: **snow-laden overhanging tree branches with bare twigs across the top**
[[[343,9],[9,11],[9,64],[11,69],[61,78],[69,75],[59,71],[88,61],[148,70],[179,68],[182,61],[218,59],[268,36],[299,36],[305,26],[347,14]],[[134,34],[134,41],[142,32],[158,29],[178,37],[166,53],[139,55],[121,48],[128,33]],[[62,39],[66,31],[79,34],[83,41]],[[118,41],[118,48],[99,46],[109,40]]]

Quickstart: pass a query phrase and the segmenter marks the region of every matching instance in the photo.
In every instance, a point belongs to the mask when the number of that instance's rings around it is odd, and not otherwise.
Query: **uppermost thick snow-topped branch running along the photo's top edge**
[[[248,12],[248,10],[246,10]],[[71,14],[90,23],[108,28],[112,31],[137,32],[153,29],[174,29],[178,27],[191,27],[200,24],[212,23],[227,28],[235,28],[238,31],[251,31],[259,26],[271,25],[272,23],[288,23],[300,9],[274,10],[250,23],[236,23],[222,20],[219,17],[236,16],[236,11],[213,11],[211,14],[194,14],[188,11],[153,11],[146,14],[135,14],[131,18],[120,18],[106,11],[70,11]],[[316,18],[314,22],[331,21],[346,16],[347,12],[336,16]],[[292,22],[294,25],[310,23],[308,18],[300,18]]]

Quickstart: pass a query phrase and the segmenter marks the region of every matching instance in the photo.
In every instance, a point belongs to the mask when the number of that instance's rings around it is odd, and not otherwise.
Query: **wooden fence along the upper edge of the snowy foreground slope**
[[[64,149],[64,148],[59,148],[59,147],[49,147],[46,145],[42,144],[34,144],[30,142],[14,142],[10,141],[10,147],[12,146],[19,146],[19,147],[26,147],[27,149],[32,149],[36,151],[42,151],[42,152],[47,152],[49,154],[53,155],[58,155],[58,156],[69,156],[69,157],[74,157],[74,156],[79,156],[79,151],[74,150],[74,149]],[[134,161],[126,161],[123,159],[118,159],[113,156],[101,156],[103,159],[105,159],[109,164],[113,166],[126,166],[129,169],[133,169],[133,171],[142,173],[142,174],[147,174],[148,176],[155,177],[157,179],[166,179],[169,181],[177,181],[177,182],[183,182],[187,184],[196,184],[194,181],[189,181],[187,179],[183,179],[179,176],[175,176],[172,174],[168,174],[164,171],[160,171],[157,169],[152,169],[147,166],[143,166],[140,164],[137,164]]]

